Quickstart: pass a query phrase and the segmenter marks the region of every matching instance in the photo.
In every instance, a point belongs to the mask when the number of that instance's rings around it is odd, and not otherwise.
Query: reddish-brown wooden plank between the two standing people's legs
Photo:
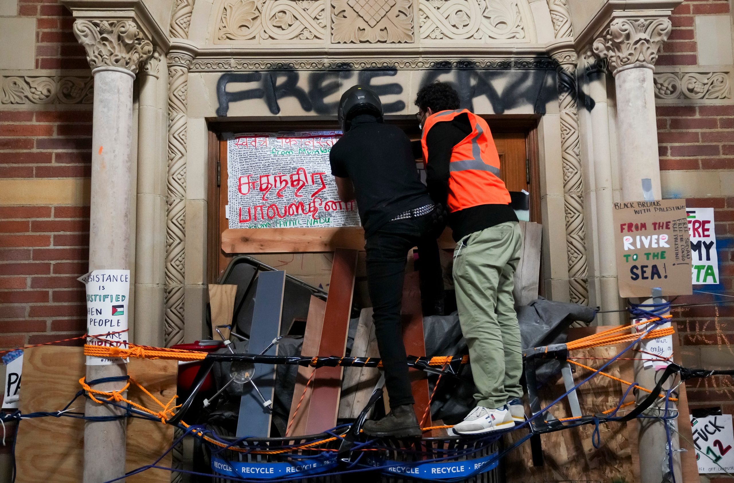
[[[403,344],[408,355],[423,357],[426,355],[426,340],[423,333],[423,311],[421,311],[421,282],[418,272],[405,274],[403,283]],[[428,375],[425,371],[410,369],[410,388],[415,399],[415,416],[418,423],[429,407]],[[426,415],[423,427],[432,426],[430,411]]]

